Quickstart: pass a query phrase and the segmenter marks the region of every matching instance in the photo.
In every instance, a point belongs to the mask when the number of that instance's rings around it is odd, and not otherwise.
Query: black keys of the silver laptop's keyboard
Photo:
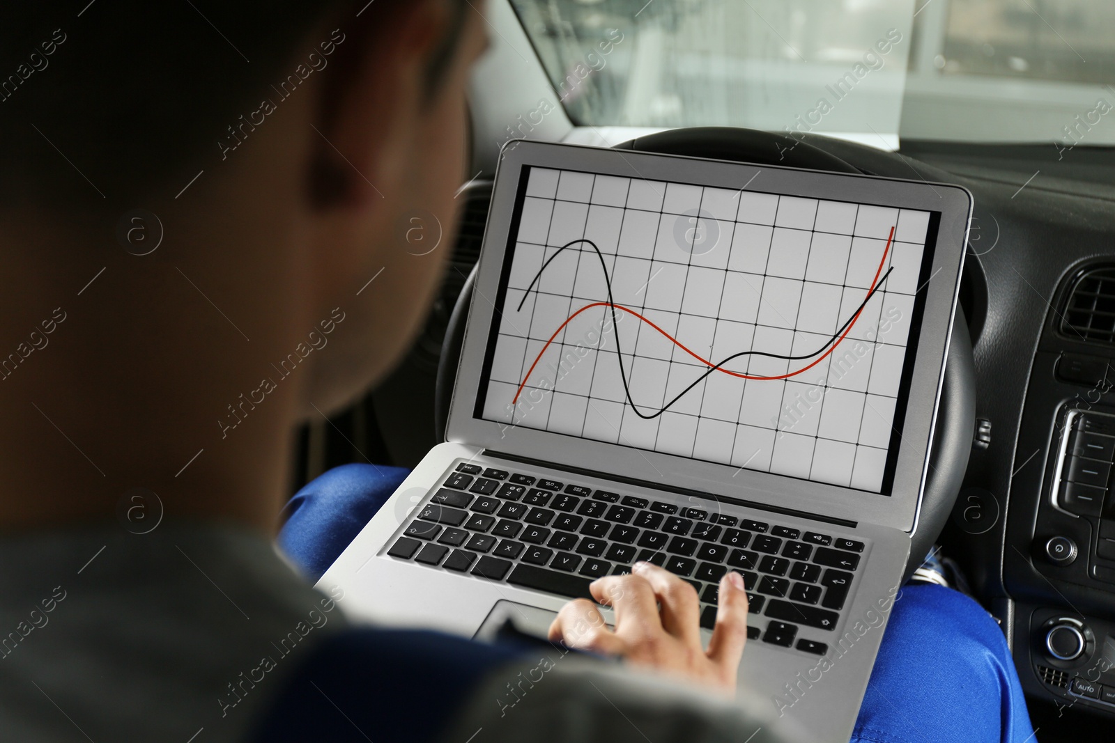
[[[737,570],[750,604],[748,638],[824,655],[827,642],[802,634],[823,638],[836,628],[863,551],[862,541],[823,531],[462,462],[387,554],[590,599],[594,579],[644,560],[697,589],[707,629],[720,577]]]

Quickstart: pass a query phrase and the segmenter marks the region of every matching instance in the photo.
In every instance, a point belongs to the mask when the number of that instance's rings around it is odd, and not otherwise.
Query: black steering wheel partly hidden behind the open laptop
[[[804,141],[796,137],[756,129],[692,127],[637,137],[617,145],[615,148],[812,170],[869,173],[852,166],[816,144],[812,144],[824,143],[824,138],[809,137],[808,139],[809,141]],[[846,151],[855,151],[845,143],[841,143],[841,145],[844,145],[842,148]],[[880,154],[876,150],[869,151],[872,159],[878,162]],[[457,364],[460,360],[465,320],[468,316],[468,304],[472,301],[475,281],[476,268],[474,267],[457,297],[442,345],[434,394],[435,432],[438,441],[445,440],[449,400],[453,394]],[[903,581],[925,559],[925,555],[933,547],[952,511],[957,493],[960,492],[964,471],[968,469],[975,424],[976,366],[972,361],[972,344],[968,334],[968,323],[963,310],[958,306],[949,340],[949,355],[946,360],[941,400],[937,411],[937,427],[929,459],[930,470],[925,480],[925,490],[922,493],[918,526],[911,535],[910,558],[906,560]]]

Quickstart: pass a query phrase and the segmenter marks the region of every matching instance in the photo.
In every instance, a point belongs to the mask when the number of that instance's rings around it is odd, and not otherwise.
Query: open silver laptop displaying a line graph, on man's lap
[[[901,602],[970,213],[952,185],[508,143],[447,441],[319,586],[377,624],[544,636],[649,560],[697,589],[707,643],[738,570],[740,686],[846,741]]]

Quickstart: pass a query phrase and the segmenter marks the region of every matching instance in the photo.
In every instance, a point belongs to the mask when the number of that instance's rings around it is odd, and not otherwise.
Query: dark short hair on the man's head
[[[261,98],[281,106],[301,76],[329,66],[336,79],[336,67],[351,63],[407,2],[4,3],[0,206],[120,208],[173,197],[216,167],[236,128],[251,131],[242,117]],[[433,76],[452,59],[457,26],[430,59]],[[314,28],[326,29],[320,40],[310,38]],[[314,58],[298,59],[307,42],[317,45]]]

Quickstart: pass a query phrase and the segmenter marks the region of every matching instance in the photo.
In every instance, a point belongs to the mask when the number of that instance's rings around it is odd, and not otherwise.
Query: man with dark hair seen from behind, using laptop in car
[[[482,10],[0,11],[7,739],[750,734],[717,701],[745,642],[738,576],[707,653],[691,588],[653,566],[595,585],[614,632],[589,602],[552,630],[698,691],[555,644],[527,694],[536,648],[340,632],[341,597],[271,547],[294,423],[388,371],[434,294],[446,252],[395,236],[418,212],[454,224]],[[514,705],[491,703],[503,686]]]

